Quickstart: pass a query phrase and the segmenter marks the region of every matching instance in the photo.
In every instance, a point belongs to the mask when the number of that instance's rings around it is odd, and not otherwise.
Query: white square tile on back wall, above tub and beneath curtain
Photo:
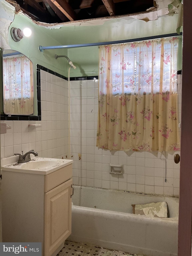
[[[71,81],[70,134],[72,135],[73,183],[146,194],[179,196],[179,164],[173,157],[180,152],[123,152],[98,149],[98,80]],[[178,84],[179,121],[181,84]],[[82,154],[79,160],[78,153]],[[160,159],[161,158],[161,159]],[[165,159],[167,182],[165,182]],[[84,162],[84,163],[83,163]],[[123,164],[123,175],[111,175],[109,164]],[[83,169],[81,169],[83,166]]]

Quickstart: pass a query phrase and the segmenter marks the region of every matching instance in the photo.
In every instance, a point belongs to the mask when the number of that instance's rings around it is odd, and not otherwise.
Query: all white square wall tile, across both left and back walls
[[[70,82],[70,135],[73,155],[73,183],[146,194],[179,195],[179,164],[175,153],[123,152],[98,149],[98,80]],[[181,84],[178,84],[179,121]],[[34,121],[5,121],[12,128],[1,134],[1,158],[34,149],[39,156],[66,158],[68,155],[68,82],[41,71],[41,128],[29,128]],[[1,121],[2,122],[2,121]],[[79,155],[81,159],[79,160]],[[161,160],[160,159],[163,159]],[[165,182],[165,158],[167,182]],[[111,175],[109,164],[123,164],[123,175]]]

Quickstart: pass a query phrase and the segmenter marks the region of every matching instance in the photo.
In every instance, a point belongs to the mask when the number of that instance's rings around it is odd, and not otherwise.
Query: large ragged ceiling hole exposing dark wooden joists
[[[66,23],[154,10],[154,0],[16,0],[16,11],[44,23]]]

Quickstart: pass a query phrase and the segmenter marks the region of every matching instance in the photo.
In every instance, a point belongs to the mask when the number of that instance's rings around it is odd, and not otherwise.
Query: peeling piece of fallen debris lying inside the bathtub
[[[167,218],[167,203],[146,203],[146,204],[132,204],[133,214],[145,215],[149,217]]]

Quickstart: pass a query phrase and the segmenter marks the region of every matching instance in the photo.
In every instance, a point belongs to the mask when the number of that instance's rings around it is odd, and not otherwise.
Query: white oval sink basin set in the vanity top
[[[29,162],[23,163],[20,166],[20,169],[24,170],[42,170],[42,169],[49,169],[51,167],[58,166],[59,163],[54,160],[31,160]]]

